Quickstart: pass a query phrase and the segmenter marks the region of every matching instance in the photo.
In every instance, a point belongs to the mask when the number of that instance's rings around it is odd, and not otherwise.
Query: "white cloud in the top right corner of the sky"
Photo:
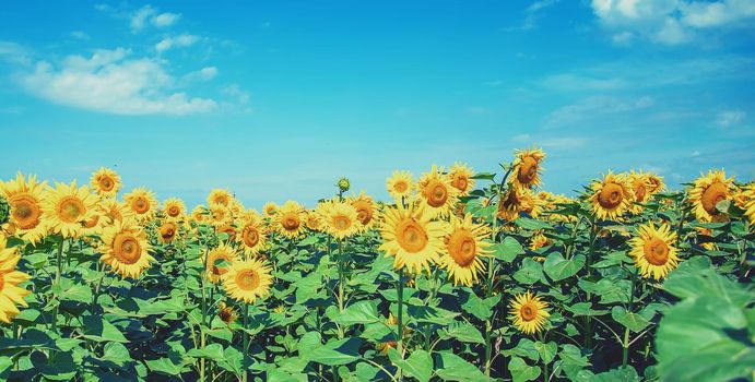
[[[620,45],[637,37],[680,45],[712,28],[755,26],[753,0],[592,0],[592,10]]]

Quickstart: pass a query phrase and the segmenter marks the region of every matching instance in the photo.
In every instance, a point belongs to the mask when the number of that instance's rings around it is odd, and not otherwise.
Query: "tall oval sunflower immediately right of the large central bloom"
[[[463,219],[451,216],[440,266],[448,270],[448,278],[453,278],[453,285],[471,287],[477,282],[477,274],[485,270],[482,258],[491,255],[491,244],[483,240],[489,235],[491,229],[484,224],[473,224],[471,215]]]

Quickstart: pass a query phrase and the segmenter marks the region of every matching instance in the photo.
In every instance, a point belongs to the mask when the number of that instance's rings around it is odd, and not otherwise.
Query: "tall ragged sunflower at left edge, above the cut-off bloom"
[[[0,181],[0,195],[11,206],[10,226],[24,240],[37,243],[47,235],[47,222],[42,208],[43,190],[47,182],[19,172],[14,180]]]

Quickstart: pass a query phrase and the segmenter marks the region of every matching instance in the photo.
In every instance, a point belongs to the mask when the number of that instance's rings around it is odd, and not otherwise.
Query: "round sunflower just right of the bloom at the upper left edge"
[[[63,238],[78,238],[82,234],[82,224],[96,213],[97,196],[86,186],[56,183],[47,187],[43,196],[42,211],[54,234]]]

